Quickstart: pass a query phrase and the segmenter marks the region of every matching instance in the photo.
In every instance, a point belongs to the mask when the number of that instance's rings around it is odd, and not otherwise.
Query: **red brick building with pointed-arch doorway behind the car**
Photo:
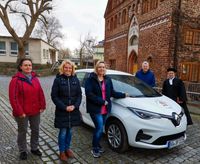
[[[105,61],[135,73],[148,60],[157,82],[169,66],[200,82],[200,0],[108,0]]]

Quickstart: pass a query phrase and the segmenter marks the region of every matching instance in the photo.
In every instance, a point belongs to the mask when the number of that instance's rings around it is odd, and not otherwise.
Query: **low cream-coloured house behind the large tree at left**
[[[26,56],[35,64],[54,63],[58,50],[42,39],[30,38],[25,47]],[[14,63],[17,60],[18,45],[10,36],[0,36],[0,62]]]

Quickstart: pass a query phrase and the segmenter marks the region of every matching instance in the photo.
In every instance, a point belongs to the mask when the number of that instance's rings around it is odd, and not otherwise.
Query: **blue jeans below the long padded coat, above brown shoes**
[[[71,128],[60,128],[58,134],[58,145],[60,152],[65,152],[70,148],[71,138]]]

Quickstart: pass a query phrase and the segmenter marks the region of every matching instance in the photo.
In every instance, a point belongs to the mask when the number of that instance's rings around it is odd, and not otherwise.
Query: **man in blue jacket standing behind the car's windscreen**
[[[144,61],[142,63],[142,69],[136,72],[135,77],[144,81],[151,87],[155,87],[155,76],[153,72],[149,69],[149,63]]]

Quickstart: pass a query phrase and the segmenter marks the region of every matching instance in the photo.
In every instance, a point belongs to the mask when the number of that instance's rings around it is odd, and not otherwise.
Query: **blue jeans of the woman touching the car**
[[[92,118],[92,121],[95,125],[95,130],[93,133],[93,140],[92,140],[92,146],[94,150],[98,150],[100,146],[100,140],[103,134],[103,127],[106,122],[107,114],[90,114],[90,117]]]

